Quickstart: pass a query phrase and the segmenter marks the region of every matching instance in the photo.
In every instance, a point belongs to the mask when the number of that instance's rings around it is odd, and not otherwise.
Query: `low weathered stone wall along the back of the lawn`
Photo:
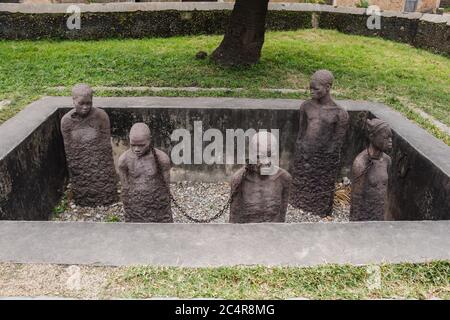
[[[68,4],[30,6],[0,4],[0,39],[105,39],[223,34],[230,3],[109,3],[78,4],[81,29],[69,30]],[[450,16],[382,12],[381,29],[367,27],[363,8],[315,4],[270,4],[268,30],[333,29],[378,36],[436,53],[450,54]]]

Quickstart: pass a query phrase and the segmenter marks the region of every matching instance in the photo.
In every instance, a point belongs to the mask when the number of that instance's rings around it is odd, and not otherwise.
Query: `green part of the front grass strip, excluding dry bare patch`
[[[110,280],[123,297],[224,299],[450,299],[450,262],[379,266],[162,268],[128,267]]]

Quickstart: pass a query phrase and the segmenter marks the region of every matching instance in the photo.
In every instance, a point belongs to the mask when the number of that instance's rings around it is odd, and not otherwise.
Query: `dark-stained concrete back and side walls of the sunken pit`
[[[298,132],[301,101],[235,98],[95,98],[112,125],[116,155],[127,148],[128,131],[138,121],[152,129],[157,147],[170,154],[167,137],[174,129],[280,129],[281,166],[289,169]],[[389,207],[394,220],[450,219],[450,148],[399,113],[379,103],[340,101],[351,117],[342,175],[366,146],[362,120],[378,117],[394,131]],[[59,120],[71,98],[43,98],[0,126],[0,212],[2,220],[47,220],[67,182]],[[191,133],[192,134],[192,133]],[[175,145],[172,143],[172,145]],[[174,166],[173,180],[218,181],[236,167]]]

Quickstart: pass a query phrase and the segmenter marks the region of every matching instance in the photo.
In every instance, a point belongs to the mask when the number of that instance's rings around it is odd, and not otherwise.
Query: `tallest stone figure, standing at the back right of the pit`
[[[333,209],[334,186],[341,148],[348,128],[346,110],[331,98],[333,74],[314,73],[311,100],[300,106],[299,133],[291,164],[291,204],[306,212],[327,216]]]

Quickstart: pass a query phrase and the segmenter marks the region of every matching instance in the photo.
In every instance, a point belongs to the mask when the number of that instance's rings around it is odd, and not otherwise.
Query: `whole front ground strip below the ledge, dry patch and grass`
[[[0,264],[0,296],[222,299],[450,299],[450,262],[380,266],[91,267]]]

